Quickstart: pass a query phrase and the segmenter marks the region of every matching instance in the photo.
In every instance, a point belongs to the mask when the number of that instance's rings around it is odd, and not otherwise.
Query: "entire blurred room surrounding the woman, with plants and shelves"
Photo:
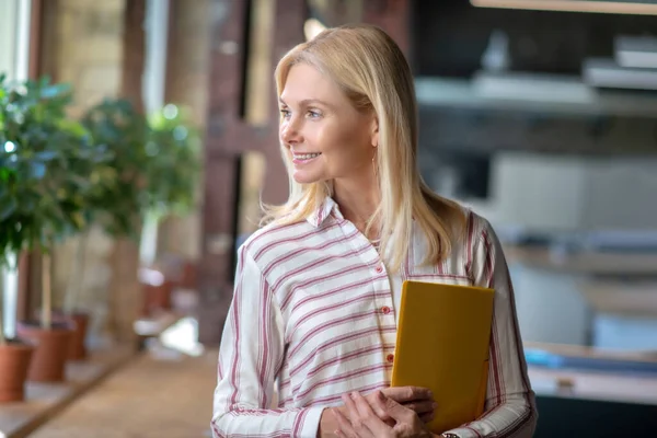
[[[503,241],[535,436],[657,435],[656,15],[0,0],[0,436],[210,436],[235,251],[287,197],[274,67],[353,22],[410,59],[424,178]]]

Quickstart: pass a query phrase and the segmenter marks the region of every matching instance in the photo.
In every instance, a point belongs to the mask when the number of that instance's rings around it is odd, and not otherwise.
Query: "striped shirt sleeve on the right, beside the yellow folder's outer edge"
[[[449,433],[461,438],[531,438],[538,419],[535,396],[527,374],[507,263],[491,224],[477,217],[471,218],[471,275],[475,286],[495,289],[489,377],[482,417]]]

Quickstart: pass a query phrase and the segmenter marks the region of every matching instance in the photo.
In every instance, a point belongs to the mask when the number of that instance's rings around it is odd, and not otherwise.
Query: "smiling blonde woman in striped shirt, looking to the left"
[[[443,436],[530,437],[500,245],[486,220],[422,182],[399,47],[372,26],[327,30],[280,60],[276,82],[290,197],[239,251],[215,437],[431,436],[431,394],[389,388],[405,279],[496,289],[486,413]]]

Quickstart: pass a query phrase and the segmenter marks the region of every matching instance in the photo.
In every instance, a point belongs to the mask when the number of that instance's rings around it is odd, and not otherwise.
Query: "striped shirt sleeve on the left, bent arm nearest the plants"
[[[269,285],[244,246],[219,347],[212,437],[315,438],[323,408],[270,408],[284,358],[284,322]]]

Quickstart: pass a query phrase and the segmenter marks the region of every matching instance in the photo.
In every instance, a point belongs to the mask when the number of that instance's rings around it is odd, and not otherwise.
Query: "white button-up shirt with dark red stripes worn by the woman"
[[[468,211],[468,238],[435,266],[422,264],[428,246],[419,229],[412,239],[402,279],[496,290],[485,414],[450,433],[531,437],[534,394],[489,223]],[[332,198],[307,221],[258,230],[240,246],[238,263],[219,350],[214,437],[315,438],[322,411],[341,405],[343,393],[390,387],[396,339],[390,277]]]

